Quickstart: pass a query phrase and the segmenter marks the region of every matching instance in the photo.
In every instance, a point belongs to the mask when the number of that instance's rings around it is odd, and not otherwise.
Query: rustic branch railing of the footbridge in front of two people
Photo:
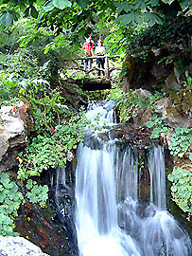
[[[121,69],[121,65],[117,65],[112,60],[116,60],[120,58],[119,55],[104,55],[104,56],[91,56],[91,57],[82,57],[78,58],[76,60],[70,60],[72,62],[72,65],[69,66],[68,70],[71,70],[70,77],[74,76],[75,74],[79,72],[84,72],[86,75],[93,73],[94,71],[100,70],[101,72],[104,72],[104,78],[110,79],[111,73],[113,70]],[[93,64],[92,68],[85,69],[85,61],[86,60],[96,60],[96,59],[105,59],[104,63],[104,69],[102,67],[98,68],[97,65]]]

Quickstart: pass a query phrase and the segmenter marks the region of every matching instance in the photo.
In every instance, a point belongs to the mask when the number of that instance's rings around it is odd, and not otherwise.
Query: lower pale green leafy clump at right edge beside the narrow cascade
[[[167,178],[173,183],[171,186],[173,201],[184,212],[189,212],[190,217],[192,214],[192,170],[174,168],[172,174],[168,174]]]

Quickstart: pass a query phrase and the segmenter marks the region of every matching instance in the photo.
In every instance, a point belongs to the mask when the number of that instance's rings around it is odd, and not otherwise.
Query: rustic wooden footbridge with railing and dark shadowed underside
[[[78,84],[84,91],[96,91],[96,90],[104,90],[111,88],[112,82],[112,72],[113,70],[120,70],[121,65],[117,65],[115,60],[118,59],[119,55],[113,56],[92,56],[92,57],[84,57],[76,60],[67,60],[65,62],[70,63],[67,70],[69,72],[67,81],[75,82]],[[96,65],[96,59],[105,59],[104,69],[98,68]],[[92,68],[85,70],[84,62],[85,60],[93,61]],[[114,61],[113,61],[114,60]],[[97,72],[104,72],[104,75],[101,78],[97,77]],[[78,79],[79,74],[81,74],[82,78]]]

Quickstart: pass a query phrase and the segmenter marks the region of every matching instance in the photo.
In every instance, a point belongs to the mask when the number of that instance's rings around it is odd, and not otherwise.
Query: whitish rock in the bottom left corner
[[[39,247],[24,237],[0,236],[0,254],[3,256],[46,256]]]

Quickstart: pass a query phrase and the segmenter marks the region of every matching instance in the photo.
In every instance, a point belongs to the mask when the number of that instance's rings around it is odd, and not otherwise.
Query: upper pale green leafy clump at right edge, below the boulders
[[[171,155],[183,157],[192,144],[192,129],[186,127],[177,127],[171,136],[168,146]]]

